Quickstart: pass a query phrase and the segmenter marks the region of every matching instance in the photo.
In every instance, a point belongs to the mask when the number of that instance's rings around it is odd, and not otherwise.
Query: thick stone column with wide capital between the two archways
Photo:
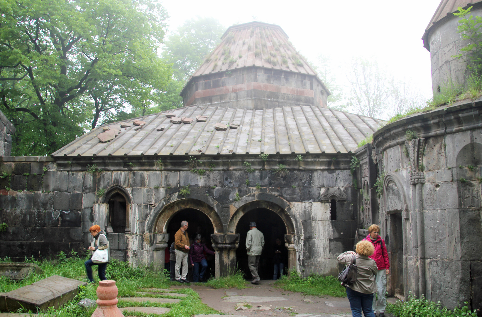
[[[228,276],[236,269],[236,249],[239,247],[239,234],[211,234],[211,242],[216,251],[214,273],[216,277]]]

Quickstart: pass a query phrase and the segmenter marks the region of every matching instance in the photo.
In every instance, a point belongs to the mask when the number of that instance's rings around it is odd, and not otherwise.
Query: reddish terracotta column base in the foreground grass
[[[92,317],[124,317],[117,307],[118,293],[116,281],[100,281],[97,287],[97,308]]]

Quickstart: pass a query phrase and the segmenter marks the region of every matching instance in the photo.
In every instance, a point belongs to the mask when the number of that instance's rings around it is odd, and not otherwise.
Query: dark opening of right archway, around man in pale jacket
[[[256,208],[245,213],[238,225],[236,233],[240,234],[240,246],[236,250],[236,258],[238,268],[244,273],[247,280],[251,280],[252,276],[248,268],[248,255],[246,254],[246,235],[249,231],[249,223],[256,222],[257,229],[261,231],[265,237],[265,247],[259,259],[258,274],[261,279],[272,279],[274,273],[273,258],[275,255],[276,238],[281,239],[284,246],[284,235],[286,234],[286,226],[274,211],[266,208]],[[282,259],[285,265],[284,274],[287,273],[288,257]]]

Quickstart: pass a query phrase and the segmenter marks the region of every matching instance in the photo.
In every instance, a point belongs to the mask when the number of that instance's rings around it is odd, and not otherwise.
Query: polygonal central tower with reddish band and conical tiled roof
[[[326,107],[328,95],[281,27],[262,22],[228,28],[181,92],[184,106],[255,110]]]

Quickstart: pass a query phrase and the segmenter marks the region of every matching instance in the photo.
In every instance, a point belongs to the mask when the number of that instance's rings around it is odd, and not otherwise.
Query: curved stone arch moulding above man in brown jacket
[[[192,195],[191,195],[192,196]],[[216,205],[214,199],[199,199],[200,197],[187,197],[184,198],[178,193],[174,193],[170,196],[162,199],[154,210],[152,211],[149,219],[147,220],[146,232],[165,234],[167,224],[173,218],[173,216],[182,209],[192,208],[197,209],[204,213],[211,223],[213,224],[214,234],[223,233],[223,223],[218,213],[214,209]],[[214,203],[213,203],[214,202]]]

